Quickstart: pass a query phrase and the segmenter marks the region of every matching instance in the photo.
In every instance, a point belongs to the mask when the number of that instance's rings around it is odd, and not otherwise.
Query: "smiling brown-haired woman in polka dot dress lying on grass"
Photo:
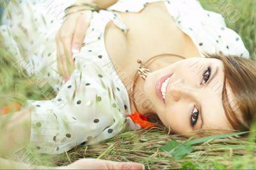
[[[13,113],[24,116],[13,127],[17,141],[59,154],[153,125],[185,137],[250,128],[256,62],[220,14],[194,0],[95,0],[99,11],[88,2],[8,4],[1,36],[15,65],[57,93]],[[10,137],[6,150],[19,145]]]

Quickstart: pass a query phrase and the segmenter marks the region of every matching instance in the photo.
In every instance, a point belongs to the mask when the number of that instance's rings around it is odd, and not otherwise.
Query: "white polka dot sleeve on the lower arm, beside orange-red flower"
[[[82,60],[82,68],[72,73],[54,100],[29,101],[31,143],[40,153],[58,154],[81,143],[99,143],[127,128],[114,80],[89,59]]]

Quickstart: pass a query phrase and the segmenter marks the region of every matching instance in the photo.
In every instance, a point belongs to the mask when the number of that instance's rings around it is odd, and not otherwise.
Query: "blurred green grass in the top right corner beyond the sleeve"
[[[221,13],[225,17],[227,26],[242,37],[245,47],[250,52],[250,57],[256,59],[256,1],[200,0],[200,3],[205,10]],[[232,19],[234,13],[240,13],[241,15]]]

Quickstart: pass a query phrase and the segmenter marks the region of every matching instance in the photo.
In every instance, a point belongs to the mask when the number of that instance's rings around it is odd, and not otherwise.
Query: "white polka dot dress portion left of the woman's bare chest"
[[[29,6],[40,8],[38,3],[32,2],[13,1],[9,5],[16,7],[18,13],[19,10],[20,13],[28,12]],[[1,26],[1,30],[6,29],[1,32],[6,46],[10,47],[10,52],[17,54],[15,65],[25,68],[28,75],[40,75],[40,79],[38,77],[38,81],[35,80],[38,83],[36,85],[51,84],[58,93],[49,100],[28,100],[24,105],[32,109],[31,144],[40,153],[58,154],[79,144],[95,144],[120,132],[140,129],[140,125],[125,116],[131,114],[129,96],[106,52],[103,39],[104,29],[110,20],[125,33],[127,27],[113,12],[93,12],[93,19],[84,40],[86,46],[74,56],[76,70],[70,80],[64,83],[56,72],[54,40],[61,24],[45,13],[42,11],[38,15],[31,16],[30,13],[25,16],[17,15],[14,11],[14,21],[5,14],[4,25]],[[36,18],[38,22],[24,25],[16,23],[31,18]],[[50,96],[47,89],[43,93],[45,97]]]

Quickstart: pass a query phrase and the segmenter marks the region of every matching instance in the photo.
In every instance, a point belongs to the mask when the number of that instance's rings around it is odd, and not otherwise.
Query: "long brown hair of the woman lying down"
[[[230,125],[234,130],[250,130],[256,115],[256,61],[239,56],[224,56],[223,54],[205,54],[205,58],[216,58],[223,62],[225,79],[221,99]],[[226,84],[230,86],[234,94],[236,105],[228,102]],[[156,123],[156,127],[166,131],[166,127],[157,114],[147,113],[145,116],[152,123]]]

